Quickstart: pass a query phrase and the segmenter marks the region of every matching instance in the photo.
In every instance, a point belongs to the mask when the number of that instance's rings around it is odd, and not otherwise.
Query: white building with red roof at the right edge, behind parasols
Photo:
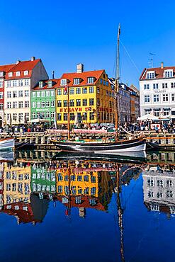
[[[141,116],[147,113],[166,118],[175,109],[175,67],[144,69],[140,76]],[[175,115],[174,115],[175,118]]]

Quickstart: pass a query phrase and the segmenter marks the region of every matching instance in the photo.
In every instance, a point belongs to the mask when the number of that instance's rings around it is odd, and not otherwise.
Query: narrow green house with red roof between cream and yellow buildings
[[[31,120],[45,119],[50,125],[55,123],[55,87],[59,79],[39,81],[31,91]]]

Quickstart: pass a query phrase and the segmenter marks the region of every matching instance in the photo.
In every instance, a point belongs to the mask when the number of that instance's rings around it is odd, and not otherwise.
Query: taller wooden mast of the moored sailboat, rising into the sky
[[[118,140],[118,91],[119,91],[119,44],[120,44],[120,23],[118,25],[118,44],[117,44],[117,59],[116,59],[116,76],[115,76],[115,140]]]

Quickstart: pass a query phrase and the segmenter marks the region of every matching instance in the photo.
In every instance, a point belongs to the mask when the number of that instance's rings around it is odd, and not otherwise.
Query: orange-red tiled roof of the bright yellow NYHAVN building
[[[101,74],[103,74],[104,70],[94,70],[94,71],[87,71],[83,73],[65,73],[62,74],[62,79],[68,79],[69,80],[69,86],[87,86],[92,84],[87,84],[87,77],[94,77],[95,81],[94,84],[96,84],[96,81],[101,77]],[[81,79],[79,85],[74,84],[74,79]]]

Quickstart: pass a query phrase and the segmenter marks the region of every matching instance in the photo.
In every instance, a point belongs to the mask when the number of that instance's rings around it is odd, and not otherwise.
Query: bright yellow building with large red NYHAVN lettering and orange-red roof
[[[69,107],[68,107],[69,100]],[[114,92],[105,70],[63,74],[56,89],[57,125],[113,123]]]

